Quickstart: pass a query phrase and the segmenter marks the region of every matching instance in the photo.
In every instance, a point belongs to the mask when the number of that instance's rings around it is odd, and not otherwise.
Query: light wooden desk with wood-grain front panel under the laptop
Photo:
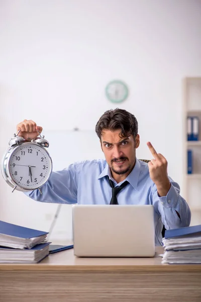
[[[73,250],[38,264],[0,264],[0,301],[201,301],[201,265],[154,258],[76,258]]]

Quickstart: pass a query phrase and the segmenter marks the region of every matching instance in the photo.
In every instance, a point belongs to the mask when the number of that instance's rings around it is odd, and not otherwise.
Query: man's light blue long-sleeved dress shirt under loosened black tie
[[[190,209],[179,195],[179,185],[169,177],[171,187],[166,196],[159,197],[156,185],[149,176],[148,164],[138,159],[128,177],[119,184],[112,178],[105,160],[83,161],[62,171],[52,172],[48,182],[41,187],[42,195],[39,190],[25,194],[42,202],[110,204],[112,188],[108,176],[115,186],[120,186],[126,180],[129,182],[117,195],[119,204],[153,204],[156,245],[161,244],[163,224],[166,230],[190,224]]]

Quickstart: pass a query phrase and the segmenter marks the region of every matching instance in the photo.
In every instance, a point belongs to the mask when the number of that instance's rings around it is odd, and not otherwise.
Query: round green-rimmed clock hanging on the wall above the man
[[[128,94],[128,87],[123,81],[114,80],[106,86],[106,97],[113,103],[121,103],[125,101]]]

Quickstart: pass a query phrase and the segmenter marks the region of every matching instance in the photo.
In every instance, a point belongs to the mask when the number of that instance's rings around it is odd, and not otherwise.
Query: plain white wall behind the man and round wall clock
[[[94,129],[117,107],[105,97],[107,83],[122,79],[130,96],[119,107],[139,121],[138,157],[151,158],[150,140],[181,184],[181,81],[201,75],[200,9],[199,0],[2,0],[0,155],[25,118],[47,131]],[[73,153],[69,144],[68,161]],[[49,229],[57,205],[11,193],[3,178],[0,186],[0,219]],[[69,206],[59,236],[71,237]]]

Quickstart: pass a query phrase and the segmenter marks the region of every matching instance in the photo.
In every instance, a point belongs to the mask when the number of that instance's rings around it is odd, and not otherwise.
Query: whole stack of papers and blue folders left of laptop
[[[49,254],[47,232],[0,220],[0,263],[37,263]]]

